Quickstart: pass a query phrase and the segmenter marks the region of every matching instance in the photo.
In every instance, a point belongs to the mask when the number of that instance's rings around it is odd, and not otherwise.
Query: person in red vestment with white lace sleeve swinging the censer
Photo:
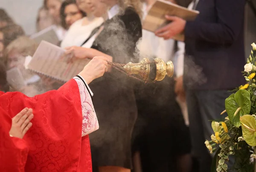
[[[60,89],[42,95],[0,92],[1,172],[92,172],[88,134],[99,124],[87,84],[106,72],[107,60],[94,57]],[[11,137],[11,119],[24,108],[33,110],[33,125],[23,139]]]

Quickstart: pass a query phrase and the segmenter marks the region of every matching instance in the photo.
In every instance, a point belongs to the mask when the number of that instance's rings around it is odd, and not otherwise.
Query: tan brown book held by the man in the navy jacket
[[[157,0],[149,9],[145,20],[143,21],[143,29],[155,32],[157,29],[166,26],[171,21],[166,20],[165,15],[177,16],[184,20],[195,20],[199,11],[189,10],[185,7],[178,6],[166,0]],[[184,34],[178,34],[173,39],[184,41]]]

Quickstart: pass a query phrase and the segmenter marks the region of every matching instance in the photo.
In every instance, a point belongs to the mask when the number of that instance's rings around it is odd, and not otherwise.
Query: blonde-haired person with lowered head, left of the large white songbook
[[[11,91],[20,91],[33,97],[52,89],[58,89],[63,84],[26,69],[37,48],[38,43],[26,36],[17,38],[6,47],[4,58],[7,61],[7,69],[9,69],[8,80]]]

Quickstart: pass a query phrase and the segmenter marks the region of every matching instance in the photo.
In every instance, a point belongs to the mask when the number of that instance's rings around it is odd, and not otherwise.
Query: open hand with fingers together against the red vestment
[[[9,132],[10,136],[16,138],[23,138],[26,132],[32,126],[30,120],[34,115],[32,114],[32,109],[25,108],[20,113],[18,113],[14,118],[12,118],[12,127]]]

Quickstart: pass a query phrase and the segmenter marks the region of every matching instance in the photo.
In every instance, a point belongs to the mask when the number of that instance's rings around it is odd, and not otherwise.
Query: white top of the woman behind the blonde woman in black
[[[70,26],[66,37],[61,42],[61,48],[69,46],[81,46],[82,43],[90,36],[93,29],[100,26],[104,20],[102,17],[96,17],[87,25],[82,25],[84,18],[77,20]]]

